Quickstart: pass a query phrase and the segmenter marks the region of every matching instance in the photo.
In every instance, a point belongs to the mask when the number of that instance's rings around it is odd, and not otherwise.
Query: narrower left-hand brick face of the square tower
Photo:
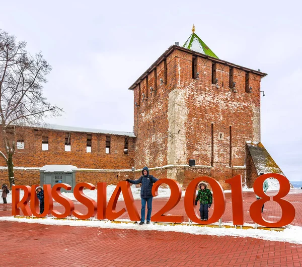
[[[135,167],[167,165],[168,94],[175,88],[175,58],[170,55],[134,88]],[[167,64],[167,73],[165,73]],[[166,78],[167,77],[167,81]],[[157,78],[157,79],[155,79]],[[161,80],[163,79],[163,84]],[[147,88],[148,83],[148,88]],[[156,88],[152,93],[150,87]],[[143,99],[142,93],[148,96]]]

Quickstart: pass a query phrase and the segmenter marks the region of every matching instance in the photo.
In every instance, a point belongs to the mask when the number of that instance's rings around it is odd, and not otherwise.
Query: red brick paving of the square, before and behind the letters
[[[245,211],[253,193],[244,193]],[[295,206],[295,225],[302,226],[302,190],[287,198]],[[226,213],[230,196],[226,194]],[[154,200],[154,211],[164,199]],[[228,204],[229,203],[229,204]],[[139,206],[139,201],[136,202]],[[173,213],[181,212],[180,207]],[[267,216],[277,212],[265,207]],[[122,203],[119,203],[122,206]],[[6,210],[5,210],[6,209]],[[278,210],[278,209],[277,209]],[[10,214],[0,205],[0,215]],[[170,214],[173,214],[172,211]],[[245,212],[246,214],[246,212]],[[231,215],[225,215],[226,221]],[[248,217],[246,221],[248,221]],[[301,266],[302,245],[250,237],[192,235],[179,232],[136,231],[0,222],[0,266]]]

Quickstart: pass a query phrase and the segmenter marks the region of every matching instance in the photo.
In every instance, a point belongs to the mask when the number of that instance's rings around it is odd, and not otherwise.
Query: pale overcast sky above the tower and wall
[[[261,81],[261,141],[289,180],[302,180],[301,1],[1,1],[0,28],[52,65],[50,123],[132,131],[128,88],[175,41],[195,33]]]

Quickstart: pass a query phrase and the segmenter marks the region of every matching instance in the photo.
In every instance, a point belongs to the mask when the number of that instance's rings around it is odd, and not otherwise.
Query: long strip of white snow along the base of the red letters
[[[23,223],[39,223],[44,225],[68,225],[68,226],[85,226],[85,227],[98,227],[98,228],[111,228],[111,229],[130,229],[137,231],[171,231],[188,233],[194,235],[215,235],[215,236],[234,236],[234,237],[253,237],[270,241],[280,241],[302,244],[302,227],[291,226],[284,229],[284,231],[270,231],[260,229],[235,229],[235,228],[212,228],[212,227],[200,227],[194,225],[138,225],[132,223],[121,222],[119,224],[112,223],[110,221],[81,221],[81,220],[54,220],[47,219],[26,219],[26,218],[14,218],[14,217],[0,217],[0,221],[10,222],[23,222]],[[126,220],[124,220],[126,221]],[[101,230],[100,230],[101,231]]]

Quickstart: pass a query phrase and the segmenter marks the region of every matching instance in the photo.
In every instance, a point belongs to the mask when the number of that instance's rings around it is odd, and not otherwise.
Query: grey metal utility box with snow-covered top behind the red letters
[[[73,192],[77,169],[72,165],[45,165],[40,169],[40,185],[51,184],[53,187],[57,183],[67,183],[71,186],[71,190],[61,189],[61,191]]]

